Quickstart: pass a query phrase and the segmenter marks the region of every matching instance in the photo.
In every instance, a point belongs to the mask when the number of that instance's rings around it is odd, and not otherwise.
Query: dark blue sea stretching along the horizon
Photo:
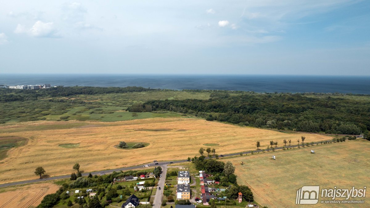
[[[0,84],[370,94],[370,76],[0,74]]]

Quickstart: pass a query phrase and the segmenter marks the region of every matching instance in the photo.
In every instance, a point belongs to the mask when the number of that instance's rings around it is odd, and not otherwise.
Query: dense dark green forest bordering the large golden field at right
[[[302,94],[212,93],[208,100],[156,100],[130,111],[167,110],[194,114],[209,121],[252,127],[330,134],[370,130],[370,102],[343,98],[311,98]]]

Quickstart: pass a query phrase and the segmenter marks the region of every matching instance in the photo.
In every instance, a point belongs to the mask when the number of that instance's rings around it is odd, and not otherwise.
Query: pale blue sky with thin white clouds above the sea
[[[370,75],[370,1],[0,7],[0,73]]]

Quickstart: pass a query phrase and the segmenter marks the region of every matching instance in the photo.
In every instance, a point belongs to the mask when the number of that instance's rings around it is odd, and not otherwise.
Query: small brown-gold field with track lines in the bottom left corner
[[[53,183],[39,183],[20,187],[0,189],[0,208],[37,207],[47,194],[54,194],[59,186]]]

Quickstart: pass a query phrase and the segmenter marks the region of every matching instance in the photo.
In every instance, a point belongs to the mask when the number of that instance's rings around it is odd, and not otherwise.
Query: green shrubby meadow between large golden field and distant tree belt
[[[181,117],[171,112],[131,113],[127,107],[149,100],[208,99],[209,92],[145,91],[69,97],[38,98],[37,100],[5,102],[0,107],[0,124],[18,121],[126,121],[142,118]],[[80,103],[78,101],[84,101]]]

